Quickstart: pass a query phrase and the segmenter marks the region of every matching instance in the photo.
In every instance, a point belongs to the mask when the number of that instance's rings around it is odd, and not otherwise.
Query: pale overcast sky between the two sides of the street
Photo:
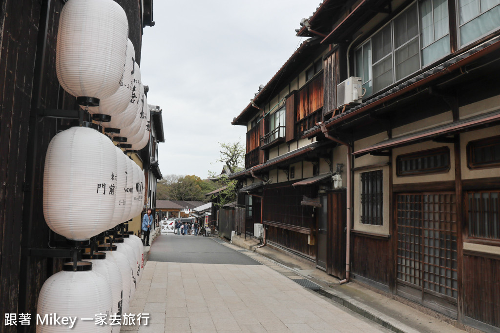
[[[231,125],[304,38],[300,19],[319,0],[160,0],[142,35],[141,77],[148,104],[163,110],[163,175],[219,173],[218,142],[245,143]]]

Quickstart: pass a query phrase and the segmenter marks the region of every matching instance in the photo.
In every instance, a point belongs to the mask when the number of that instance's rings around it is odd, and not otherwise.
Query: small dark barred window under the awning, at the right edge
[[[467,144],[467,165],[470,169],[500,166],[500,135],[470,141]]]

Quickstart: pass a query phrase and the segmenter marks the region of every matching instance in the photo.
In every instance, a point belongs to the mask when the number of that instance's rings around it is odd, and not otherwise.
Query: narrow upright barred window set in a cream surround
[[[383,224],[382,214],[382,170],[362,172],[361,178],[361,216],[362,224],[381,226]]]

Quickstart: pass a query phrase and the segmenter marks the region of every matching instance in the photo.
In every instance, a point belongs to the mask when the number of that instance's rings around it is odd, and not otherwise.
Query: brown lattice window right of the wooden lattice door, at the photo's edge
[[[500,191],[467,193],[468,236],[500,240]]]

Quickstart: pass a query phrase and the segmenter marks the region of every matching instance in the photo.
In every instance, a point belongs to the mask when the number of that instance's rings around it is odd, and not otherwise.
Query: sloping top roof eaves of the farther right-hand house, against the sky
[[[281,68],[274,74],[274,76],[265,84],[265,86],[258,92],[258,94],[252,99],[253,104],[257,105],[260,103],[267,102],[268,98],[271,98],[273,93],[279,91],[279,84],[284,84],[285,77],[287,73],[295,72],[297,68],[304,67],[308,63],[304,63],[305,58],[309,57],[313,52],[325,47],[319,43],[317,37],[309,38],[304,40],[300,46],[293,52],[293,54],[286,60],[286,62],[281,66]],[[305,68],[304,68],[305,69]],[[246,107],[239,113],[238,116],[232,119],[232,125],[246,125],[247,118],[253,115],[253,112],[257,112],[258,108],[254,107],[252,103],[246,105]]]

